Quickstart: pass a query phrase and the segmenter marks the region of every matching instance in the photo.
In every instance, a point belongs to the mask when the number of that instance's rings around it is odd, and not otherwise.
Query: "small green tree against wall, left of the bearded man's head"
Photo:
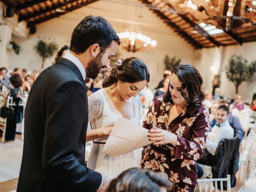
[[[54,42],[47,44],[46,42],[39,40],[34,48],[40,57],[42,57],[42,68],[44,68],[44,60],[53,56],[54,52],[58,50],[58,45]]]

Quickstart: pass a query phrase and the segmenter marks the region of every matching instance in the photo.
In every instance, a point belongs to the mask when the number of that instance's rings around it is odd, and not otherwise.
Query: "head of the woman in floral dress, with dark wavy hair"
[[[198,70],[190,64],[180,64],[172,70],[169,89],[164,95],[164,102],[172,104],[188,104],[187,111],[190,116],[201,106],[204,100],[202,91],[203,79]]]

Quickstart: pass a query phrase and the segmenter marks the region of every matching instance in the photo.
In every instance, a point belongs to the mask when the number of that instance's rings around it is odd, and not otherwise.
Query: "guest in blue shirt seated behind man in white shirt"
[[[229,102],[223,101],[221,102],[222,105],[226,105],[229,108]],[[210,121],[210,127],[209,130],[211,131],[213,126],[216,124],[216,118],[214,117],[212,121]],[[244,132],[242,129],[242,125],[240,123],[240,120],[237,116],[232,115],[231,113],[228,115],[228,122],[230,126],[234,129],[234,137],[236,136],[239,138],[240,141],[242,141],[244,137]]]

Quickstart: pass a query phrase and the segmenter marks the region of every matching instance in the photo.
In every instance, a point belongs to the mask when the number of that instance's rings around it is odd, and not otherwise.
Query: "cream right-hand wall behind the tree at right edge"
[[[226,78],[226,67],[229,65],[229,58],[231,55],[242,55],[248,62],[256,60],[256,42],[248,42],[240,45],[221,46],[220,48],[203,48],[198,50],[198,59],[194,60],[194,66],[198,68],[204,79],[204,88],[212,91],[213,75],[210,71],[210,66],[217,61],[220,62],[221,84],[220,89],[223,96],[226,98],[233,98],[236,92],[234,83]],[[238,94],[241,94],[245,102],[252,101],[252,95],[256,93],[256,81],[243,82],[238,88]]]

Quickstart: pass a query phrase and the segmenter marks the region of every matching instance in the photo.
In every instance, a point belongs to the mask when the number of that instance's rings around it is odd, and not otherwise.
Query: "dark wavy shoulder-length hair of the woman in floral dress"
[[[176,74],[179,81],[182,83],[180,92],[184,99],[188,102],[186,109],[188,114],[193,116],[204,100],[204,92],[202,91],[202,76],[194,66],[185,63],[176,66],[172,70],[172,74]],[[187,93],[188,97],[186,96]],[[170,101],[171,104],[174,103],[169,89],[164,95],[163,101]]]

